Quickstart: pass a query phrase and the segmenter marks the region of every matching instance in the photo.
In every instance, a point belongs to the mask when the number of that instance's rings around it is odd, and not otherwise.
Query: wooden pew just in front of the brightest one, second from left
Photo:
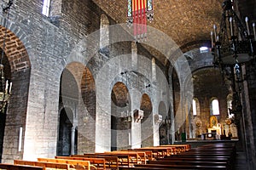
[[[41,161],[23,161],[23,160],[15,160],[15,165],[29,165],[33,167],[44,167],[44,170],[47,168],[56,168],[56,169],[70,169],[69,165],[62,163],[49,163],[49,162],[41,162]]]

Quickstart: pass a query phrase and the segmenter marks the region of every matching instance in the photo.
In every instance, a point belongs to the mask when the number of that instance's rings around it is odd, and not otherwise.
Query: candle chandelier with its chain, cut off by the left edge
[[[2,48],[2,56],[0,60],[0,111],[4,112],[5,107],[9,102],[9,97],[11,94],[11,88],[12,88],[12,82],[9,82],[4,77],[4,66],[3,66],[3,56],[4,56],[4,48],[6,43],[6,37],[7,37],[7,21],[9,20],[9,8],[13,4],[12,0],[9,0],[9,3],[7,3],[6,6],[3,6],[3,14],[7,15],[7,20],[5,22],[5,32],[3,35],[3,48]]]

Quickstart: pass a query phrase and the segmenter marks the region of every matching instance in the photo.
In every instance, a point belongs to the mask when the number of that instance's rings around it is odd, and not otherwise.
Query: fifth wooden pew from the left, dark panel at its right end
[[[119,158],[117,156],[98,156],[95,154],[84,154],[84,155],[72,155],[72,157],[93,157],[93,158],[104,158],[106,167],[111,169],[118,169],[119,168]]]

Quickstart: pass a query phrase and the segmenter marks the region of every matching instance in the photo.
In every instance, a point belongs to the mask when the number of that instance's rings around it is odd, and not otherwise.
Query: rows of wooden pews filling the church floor
[[[235,142],[166,144],[129,150],[115,150],[84,155],[38,158],[38,161],[15,160],[0,164],[2,169],[247,169]],[[28,168],[29,167],[29,168]]]

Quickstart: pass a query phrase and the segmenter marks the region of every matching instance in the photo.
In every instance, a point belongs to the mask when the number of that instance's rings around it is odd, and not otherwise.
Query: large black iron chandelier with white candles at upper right
[[[233,91],[232,109],[235,116],[241,113],[241,65],[248,65],[256,55],[255,23],[252,27],[246,17],[243,23],[233,9],[233,2],[225,0],[219,31],[211,31],[213,65],[218,66],[224,78],[231,82]],[[252,31],[253,28],[253,31]],[[239,114],[238,114],[239,115]]]

